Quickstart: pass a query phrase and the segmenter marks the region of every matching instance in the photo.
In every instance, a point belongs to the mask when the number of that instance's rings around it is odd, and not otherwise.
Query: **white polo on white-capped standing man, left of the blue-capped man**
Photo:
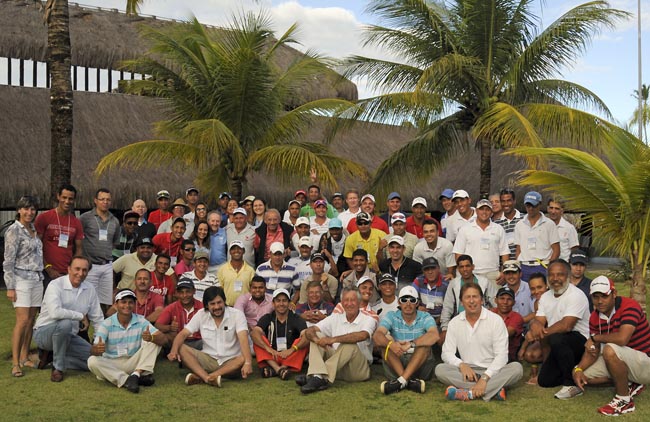
[[[476,220],[463,226],[454,243],[455,254],[466,254],[474,261],[474,274],[485,274],[499,270],[501,255],[509,255],[506,232],[490,221],[483,230]]]

